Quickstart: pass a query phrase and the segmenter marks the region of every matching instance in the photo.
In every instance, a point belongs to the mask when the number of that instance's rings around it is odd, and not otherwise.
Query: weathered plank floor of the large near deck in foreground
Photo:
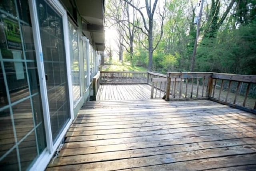
[[[90,101],[48,171],[255,170],[256,115],[209,100]]]

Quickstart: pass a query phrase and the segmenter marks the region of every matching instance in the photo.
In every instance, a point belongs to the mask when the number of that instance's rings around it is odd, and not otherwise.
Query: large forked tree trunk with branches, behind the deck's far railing
[[[164,2],[164,10],[161,14],[160,12],[160,7],[159,7],[159,3],[158,3],[158,0],[154,0],[154,3],[153,6],[151,4],[151,0],[145,0],[145,7],[142,7],[142,8],[139,8],[137,6],[135,6],[131,0],[123,0],[125,1],[126,3],[128,3],[130,6],[132,6],[135,10],[137,10],[141,17],[142,17],[142,22],[143,22],[143,26],[144,26],[144,29],[142,27],[137,27],[141,30],[142,33],[144,33],[147,37],[148,37],[148,71],[152,71],[152,68],[153,68],[153,52],[154,50],[157,48],[161,38],[162,38],[162,35],[163,35],[163,24],[164,24],[164,18],[165,18],[165,4],[166,4],[166,0]],[[154,46],[154,30],[153,30],[153,18],[154,18],[154,14],[156,12],[156,7],[157,7],[157,4],[158,4],[158,13],[159,13],[159,16],[160,16],[160,36],[159,36],[159,39],[156,42],[155,46]],[[142,9],[143,8],[146,8],[146,14],[147,14],[147,18],[145,17],[144,13],[142,12]],[[146,47],[146,46],[144,46]]]

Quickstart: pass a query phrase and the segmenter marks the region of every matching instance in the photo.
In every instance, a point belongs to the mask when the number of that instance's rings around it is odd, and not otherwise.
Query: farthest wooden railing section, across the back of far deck
[[[101,71],[100,84],[148,84],[148,72]]]

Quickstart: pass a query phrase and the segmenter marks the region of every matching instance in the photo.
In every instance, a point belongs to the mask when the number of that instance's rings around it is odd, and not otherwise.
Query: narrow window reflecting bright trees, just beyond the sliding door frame
[[[78,36],[77,29],[71,22],[68,22],[69,28],[69,44],[70,44],[70,65],[72,77],[73,101],[80,98],[80,69],[78,57]]]

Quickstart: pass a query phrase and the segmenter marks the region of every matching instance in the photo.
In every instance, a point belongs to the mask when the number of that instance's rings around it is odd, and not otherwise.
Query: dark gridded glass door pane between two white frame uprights
[[[55,142],[70,119],[62,16],[45,0],[37,0],[37,6],[52,139]]]

